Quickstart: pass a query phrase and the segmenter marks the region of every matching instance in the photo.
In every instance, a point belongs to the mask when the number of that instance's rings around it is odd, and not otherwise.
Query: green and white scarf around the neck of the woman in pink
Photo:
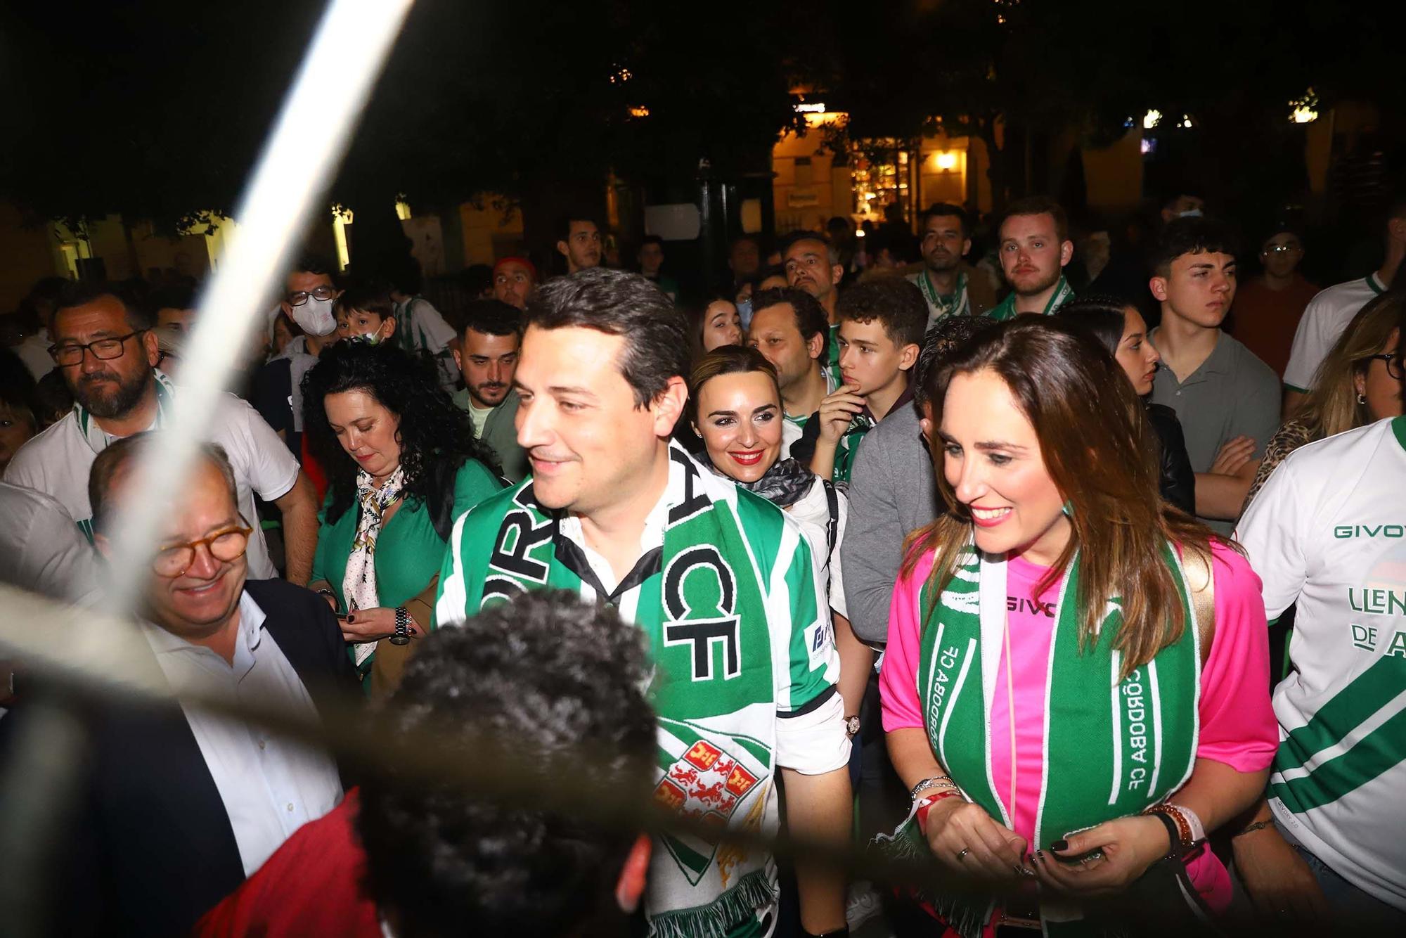
[[[1163,557],[1181,592],[1185,627],[1175,644],[1122,681],[1122,655],[1114,648],[1122,624],[1119,599],[1108,600],[1097,641],[1081,651],[1077,554],[1064,571],[1045,688],[1043,779],[1032,851],[1137,814],[1191,778],[1201,731],[1201,638],[1181,560],[1170,544]],[[988,719],[1007,623],[1005,560],[969,544],[953,574],[935,605],[932,584],[922,589],[927,620],[917,681],[924,727],[934,755],[962,795],[1014,828],[997,795]],[[1112,745],[1092,744],[1107,740]],[[929,855],[911,814],[893,838],[880,841],[897,855]],[[936,897],[934,906],[963,935],[980,934],[991,915],[990,903],[973,906],[967,897]],[[1069,900],[1042,901],[1042,918],[1046,935],[1088,931]]]

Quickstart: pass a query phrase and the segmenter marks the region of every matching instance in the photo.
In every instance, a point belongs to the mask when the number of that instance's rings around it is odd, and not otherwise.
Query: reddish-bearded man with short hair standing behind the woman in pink
[[[1011,295],[986,314],[997,321],[1022,312],[1050,315],[1074,297],[1064,266],[1074,256],[1069,218],[1052,198],[1035,195],[1011,205],[1001,222],[1001,270]]]

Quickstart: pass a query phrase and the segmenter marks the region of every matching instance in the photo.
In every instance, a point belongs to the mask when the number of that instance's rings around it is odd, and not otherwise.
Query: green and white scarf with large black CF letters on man
[[[659,721],[655,800],[717,828],[761,831],[776,823],[773,653],[779,653],[763,592],[765,584],[775,589],[778,577],[785,574],[789,582],[796,571],[775,568],[780,540],[769,557],[754,553],[751,540],[761,536],[770,543],[772,534],[752,530],[749,539],[742,527],[775,525],[775,536],[783,537],[785,519],[765,499],[702,471],[678,444],[669,457],[662,550],[647,551],[614,593],[605,592],[581,547],[560,532],[561,513],[537,502],[529,478],[460,522],[440,575],[440,620],[526,589],[579,593],[589,584],[609,603],[637,591],[634,622],[648,637],[655,668],[650,685]],[[808,571],[808,554],[796,557]],[[651,934],[737,934],[755,910],[775,901],[775,889],[769,855],[693,834],[665,834],[655,841],[650,868]]]

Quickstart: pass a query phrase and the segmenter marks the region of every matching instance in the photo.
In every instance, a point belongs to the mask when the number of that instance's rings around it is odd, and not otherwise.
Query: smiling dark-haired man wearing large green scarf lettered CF
[[[644,277],[600,269],[543,284],[526,323],[513,384],[533,474],[456,523],[437,622],[540,588],[616,606],[654,664],[654,799],[770,831],[785,778],[790,830],[844,844],[849,740],[824,586],[790,516],[669,442],[688,398],[682,314]],[[842,880],[796,873],[806,931],[842,931]],[[761,851],[662,833],[651,934],[762,938],[776,889]]]

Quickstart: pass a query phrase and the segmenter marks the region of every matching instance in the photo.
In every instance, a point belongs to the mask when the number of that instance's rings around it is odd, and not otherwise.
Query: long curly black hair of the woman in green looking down
[[[318,363],[302,375],[302,426],[328,474],[329,523],[356,505],[356,464],[337,443],[322,406],[323,398],[342,391],[366,391],[399,419],[405,498],[425,505],[434,530],[449,539],[454,523],[454,475],[460,467],[478,460],[495,475],[502,474],[494,451],[474,437],[468,411],[456,406],[440,387],[427,356],[364,342],[333,342],[325,347]]]

